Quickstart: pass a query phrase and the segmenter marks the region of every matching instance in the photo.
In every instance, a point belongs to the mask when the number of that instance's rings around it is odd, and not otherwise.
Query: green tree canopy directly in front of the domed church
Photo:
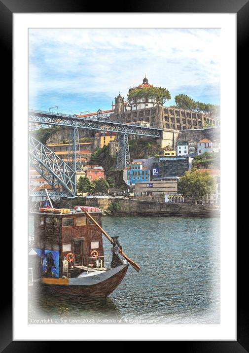
[[[162,87],[135,88],[129,91],[127,97],[128,102],[134,105],[146,104],[151,100],[157,105],[163,105],[167,100],[171,99],[169,90]]]

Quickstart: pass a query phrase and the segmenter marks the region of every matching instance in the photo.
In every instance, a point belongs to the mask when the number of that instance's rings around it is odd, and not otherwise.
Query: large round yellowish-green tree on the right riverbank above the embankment
[[[191,172],[185,172],[180,178],[179,189],[184,197],[193,197],[195,204],[197,204],[198,201],[203,201],[205,196],[211,195],[214,192],[215,181],[213,176],[210,176],[207,172],[202,173],[193,167]]]

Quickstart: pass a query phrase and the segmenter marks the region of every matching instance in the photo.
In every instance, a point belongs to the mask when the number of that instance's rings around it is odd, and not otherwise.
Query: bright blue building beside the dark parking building
[[[150,171],[142,162],[132,162],[131,168],[124,170],[123,180],[128,186],[135,186],[138,181],[149,181]]]

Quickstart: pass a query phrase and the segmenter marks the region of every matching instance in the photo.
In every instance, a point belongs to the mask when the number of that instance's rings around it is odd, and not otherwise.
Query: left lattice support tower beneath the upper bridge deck
[[[82,170],[80,157],[79,130],[77,128],[70,129],[67,163],[77,172]]]

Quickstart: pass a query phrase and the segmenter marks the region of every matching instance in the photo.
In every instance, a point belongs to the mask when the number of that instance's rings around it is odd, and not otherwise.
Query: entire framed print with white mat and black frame
[[[14,152],[2,350],[249,351],[234,145],[248,2],[0,5]]]

